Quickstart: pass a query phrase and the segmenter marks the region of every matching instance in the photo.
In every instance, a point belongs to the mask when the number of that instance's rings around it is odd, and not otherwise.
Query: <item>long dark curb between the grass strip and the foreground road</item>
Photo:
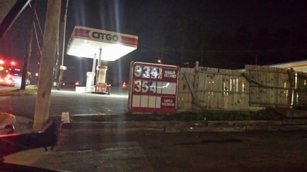
[[[101,134],[163,134],[188,132],[305,131],[307,120],[282,121],[120,121],[74,122],[62,131]]]

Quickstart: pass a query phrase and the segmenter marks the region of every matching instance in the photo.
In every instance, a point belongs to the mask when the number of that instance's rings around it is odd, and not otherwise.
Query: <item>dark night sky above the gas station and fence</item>
[[[43,25],[47,1],[38,1],[37,12]],[[64,9],[64,1],[62,9]],[[114,62],[106,62],[107,82],[112,84],[127,81],[130,61],[156,62],[161,57],[164,45],[163,62],[181,65],[181,48],[183,61],[194,62],[201,58],[201,44],[205,51],[213,51],[203,56],[203,65],[210,67],[237,69],[245,63],[253,64],[254,56],[259,57],[259,64],[270,64],[285,61],[307,59],[307,3],[306,1],[77,1],[70,0],[67,20],[66,42],[74,26],[86,26],[97,29],[133,34],[139,36],[138,50]],[[21,14],[11,31],[0,41],[0,57],[18,59],[24,57],[25,33],[29,28],[29,10]],[[253,52],[257,46],[246,48],[235,46],[235,37],[239,28],[246,28],[250,38],[257,37],[261,28],[268,29],[271,35],[278,29],[290,31],[291,35],[304,26],[303,51],[283,52],[292,44],[275,45],[261,50],[278,49],[270,52]],[[42,26],[43,27],[43,26]],[[301,27],[302,28],[302,27]],[[182,37],[182,33],[184,36]],[[218,35],[211,39],[210,35]],[[226,35],[226,36],[225,36]],[[275,34],[276,35],[276,34]],[[182,39],[183,38],[183,39]],[[210,41],[206,41],[209,40]],[[215,38],[215,37],[214,37]],[[292,38],[292,37],[291,37]],[[290,39],[290,38],[289,38]],[[215,42],[214,42],[215,40]],[[219,40],[223,40],[221,42]],[[225,41],[227,40],[227,41]],[[39,35],[39,41],[42,42]],[[7,43],[9,42],[9,43]],[[30,70],[36,70],[37,44],[33,40],[33,53]],[[251,41],[249,41],[251,42]],[[214,44],[214,46],[213,46]],[[216,45],[215,45],[216,44]],[[225,46],[224,46],[225,45]],[[232,46],[233,45],[233,46]],[[217,51],[214,52],[214,51]],[[219,54],[218,51],[229,51]],[[233,51],[251,51],[250,53],[233,54]],[[68,66],[64,81],[81,80],[85,82],[86,71],[91,70],[92,60],[65,55],[64,65]],[[76,75],[79,73],[79,75]]]

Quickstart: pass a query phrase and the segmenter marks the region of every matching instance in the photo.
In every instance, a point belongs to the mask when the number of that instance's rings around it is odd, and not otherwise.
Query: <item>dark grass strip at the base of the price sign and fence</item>
[[[127,112],[118,115],[71,116],[75,121],[190,121],[190,120],[282,120],[287,117],[273,108],[254,111],[206,110],[198,113],[182,112],[176,114],[133,114]]]

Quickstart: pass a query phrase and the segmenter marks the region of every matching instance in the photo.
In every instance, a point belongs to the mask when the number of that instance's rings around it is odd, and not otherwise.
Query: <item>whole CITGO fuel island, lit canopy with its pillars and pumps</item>
[[[86,73],[86,87],[79,87],[76,90],[106,92],[106,88],[110,85],[105,82],[107,66],[101,66],[102,60],[115,61],[136,50],[137,46],[138,37],[134,35],[76,26],[68,43],[67,54],[93,59],[92,71]]]

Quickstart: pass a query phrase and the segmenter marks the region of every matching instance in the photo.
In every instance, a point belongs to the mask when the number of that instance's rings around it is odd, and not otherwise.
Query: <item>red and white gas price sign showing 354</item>
[[[129,109],[135,113],[175,113],[178,67],[133,62],[130,68]]]

